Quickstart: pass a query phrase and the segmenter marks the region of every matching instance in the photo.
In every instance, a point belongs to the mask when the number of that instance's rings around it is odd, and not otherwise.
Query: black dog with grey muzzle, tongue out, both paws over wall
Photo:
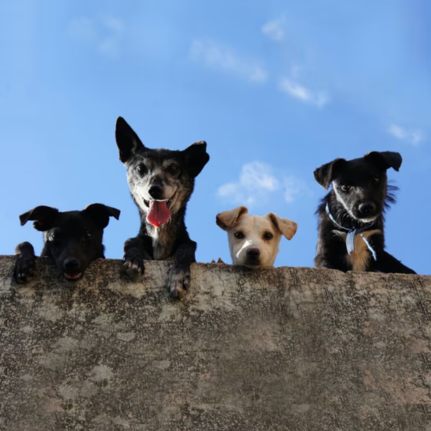
[[[141,215],[138,237],[124,244],[126,271],[135,277],[144,272],[144,260],[173,259],[168,289],[172,297],[182,296],[190,283],[196,250],[184,215],[194,178],[209,160],[206,143],[195,142],[183,151],[149,149],[122,117],[116,122],[115,139]]]

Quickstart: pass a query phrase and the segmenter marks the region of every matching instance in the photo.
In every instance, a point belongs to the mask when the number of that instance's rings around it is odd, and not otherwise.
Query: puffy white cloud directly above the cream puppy
[[[299,178],[275,174],[270,165],[251,162],[242,167],[237,182],[223,184],[217,195],[233,205],[257,207],[267,203],[275,194],[290,204],[302,192],[309,193]]]

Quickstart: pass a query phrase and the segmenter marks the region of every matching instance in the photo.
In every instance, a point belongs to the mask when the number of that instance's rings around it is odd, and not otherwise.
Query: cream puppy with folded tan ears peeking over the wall
[[[298,225],[272,212],[264,217],[247,212],[246,207],[240,206],[220,212],[215,218],[216,223],[227,231],[232,263],[253,269],[271,267],[279,251],[281,236],[290,240]]]

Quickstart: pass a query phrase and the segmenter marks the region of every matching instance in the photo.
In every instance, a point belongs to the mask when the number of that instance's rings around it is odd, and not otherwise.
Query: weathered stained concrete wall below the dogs
[[[0,429],[431,431],[431,277],[0,258]]]

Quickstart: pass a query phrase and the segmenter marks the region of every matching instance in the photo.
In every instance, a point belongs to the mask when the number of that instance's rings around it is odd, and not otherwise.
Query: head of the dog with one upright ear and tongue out
[[[183,151],[150,149],[122,117],[116,122],[115,139],[141,214],[153,226],[163,225],[190,198],[194,178],[209,160],[206,142],[195,142]]]

